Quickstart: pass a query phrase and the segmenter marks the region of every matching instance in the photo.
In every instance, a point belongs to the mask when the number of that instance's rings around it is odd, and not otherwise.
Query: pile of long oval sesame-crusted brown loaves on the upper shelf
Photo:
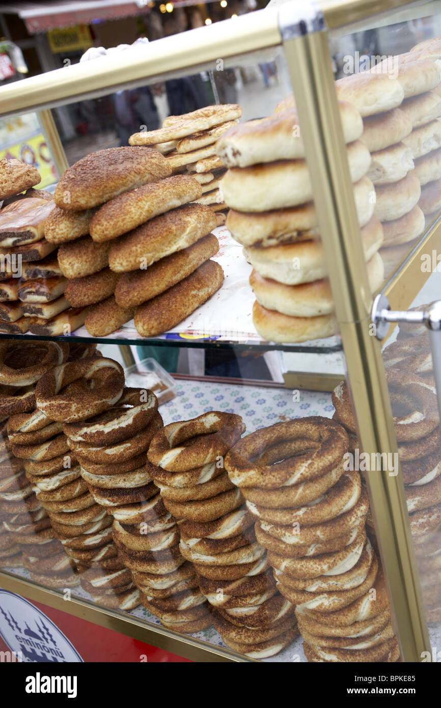
[[[106,336],[134,318],[142,336],[155,336],[220,287],[222,268],[209,261],[219,250],[210,234],[219,219],[190,203],[201,195],[197,180],[172,175],[149,147],[101,150],[64,173],[45,234],[59,245],[71,329],[84,324],[91,336]],[[48,325],[59,321],[31,331],[54,333]]]

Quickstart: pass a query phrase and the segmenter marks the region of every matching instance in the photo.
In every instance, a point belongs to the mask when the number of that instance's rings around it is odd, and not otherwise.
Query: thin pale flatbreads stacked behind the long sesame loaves
[[[207,105],[192,113],[170,115],[159,130],[135,133],[129,142],[161,152],[173,174],[190,173],[202,187],[202,195],[195,201],[223,212],[227,207],[219,187],[225,168],[216,155],[216,141],[241,115],[236,103]]]

